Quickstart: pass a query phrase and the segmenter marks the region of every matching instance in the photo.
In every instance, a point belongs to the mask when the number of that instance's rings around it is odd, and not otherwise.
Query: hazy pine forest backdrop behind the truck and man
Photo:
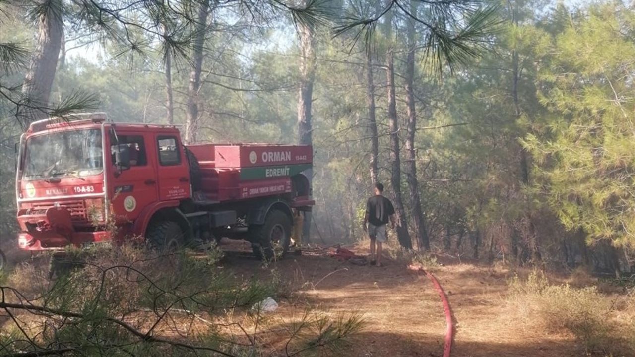
[[[432,250],[479,258],[576,264],[587,256],[611,269],[602,259],[611,243],[624,253],[618,263],[632,265],[632,4],[0,6],[3,182],[13,180],[20,106],[46,115],[98,108],[115,121],[173,122],[184,134],[190,117],[199,142],[291,144],[300,137],[298,107],[311,104],[303,130],[315,151],[318,242],[360,236],[364,198],[379,180],[391,182],[389,195],[403,192],[402,238],[417,237],[415,248],[429,239]],[[22,84],[47,14],[60,17],[63,37],[42,104]],[[309,80],[310,100],[300,104]],[[2,227],[13,232],[15,193],[1,194]]]

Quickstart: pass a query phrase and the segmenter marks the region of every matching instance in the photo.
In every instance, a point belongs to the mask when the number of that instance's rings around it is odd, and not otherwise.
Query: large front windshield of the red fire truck
[[[83,177],[104,170],[100,130],[62,131],[27,140],[23,177]]]

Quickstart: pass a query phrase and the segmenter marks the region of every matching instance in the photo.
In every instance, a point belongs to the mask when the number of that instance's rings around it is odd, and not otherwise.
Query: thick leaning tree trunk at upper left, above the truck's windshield
[[[49,104],[64,34],[62,0],[44,0],[41,6],[44,6],[46,11],[37,19],[36,47],[31,55],[29,71],[22,86],[22,93],[28,100],[28,108],[20,111],[20,119],[25,122],[48,116],[46,108]]]

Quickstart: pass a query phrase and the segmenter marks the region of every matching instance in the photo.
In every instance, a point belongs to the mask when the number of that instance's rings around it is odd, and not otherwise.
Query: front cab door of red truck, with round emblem
[[[117,130],[116,138],[110,138],[110,165],[114,167],[117,145],[130,148],[130,168],[109,170],[108,187],[112,210],[115,215],[133,221],[151,203],[157,201],[157,180],[154,165],[149,161],[153,135],[144,132]]]

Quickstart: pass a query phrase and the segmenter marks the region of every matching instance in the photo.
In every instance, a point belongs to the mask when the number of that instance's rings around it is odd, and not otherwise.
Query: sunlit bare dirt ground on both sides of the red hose
[[[347,248],[367,254],[366,246]],[[269,278],[271,270],[249,257],[248,246],[224,241],[227,249],[232,250],[224,259],[227,269],[244,278]],[[345,356],[443,356],[445,315],[431,281],[408,271],[406,262],[384,261],[385,267],[357,266],[308,253],[276,262],[274,270],[295,292],[293,298],[279,301],[276,314],[284,318],[306,306],[330,314],[362,314],[364,328],[352,338]],[[572,335],[519,322],[505,294],[512,276],[523,272],[451,258],[439,262],[434,274],[448,295],[456,325],[453,357],[585,355]]]

